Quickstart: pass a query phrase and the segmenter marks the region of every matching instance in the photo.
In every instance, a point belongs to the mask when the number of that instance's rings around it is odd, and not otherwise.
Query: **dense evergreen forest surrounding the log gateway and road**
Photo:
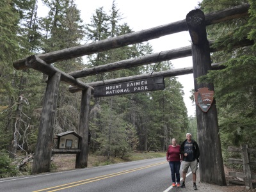
[[[115,1],[111,10],[97,8],[90,23],[83,23],[72,0],[44,0],[49,8],[46,17],[38,17],[36,0],[0,2],[0,177],[16,175],[17,159],[22,152],[35,152],[44,101],[47,76],[33,69],[15,70],[13,61],[107,38],[132,33],[122,21]],[[214,83],[223,158],[227,147],[247,143],[255,147],[256,90],[255,44],[234,48],[244,39],[256,38],[256,2],[204,0],[198,4],[204,13],[250,3],[249,16],[207,26],[212,47],[224,46],[211,54],[212,63],[223,62],[223,69],[212,70],[198,79]],[[65,39],[65,41],[63,41]],[[54,67],[67,74],[84,68],[152,54],[148,42],[98,52],[86,58],[58,61]],[[84,83],[172,69],[172,61],[80,78]],[[132,150],[165,151],[170,140],[184,140],[191,132],[196,140],[196,118],[188,117],[182,84],[177,77],[164,78],[164,90],[111,97],[95,97],[90,102],[90,152],[107,156],[124,156]],[[81,93],[68,92],[60,84],[54,135],[74,131],[79,124]],[[193,102],[191,90],[191,102]],[[52,141],[54,148],[54,141]],[[12,165],[12,166],[11,166]]]

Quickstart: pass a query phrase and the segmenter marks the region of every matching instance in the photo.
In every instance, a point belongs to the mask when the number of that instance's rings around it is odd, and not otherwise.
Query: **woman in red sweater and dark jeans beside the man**
[[[179,187],[180,162],[182,161],[182,157],[180,154],[180,145],[177,145],[177,140],[175,138],[172,139],[172,145],[169,145],[168,147],[166,160],[169,162],[172,172],[172,186],[175,187],[175,183],[177,182],[177,187]]]

